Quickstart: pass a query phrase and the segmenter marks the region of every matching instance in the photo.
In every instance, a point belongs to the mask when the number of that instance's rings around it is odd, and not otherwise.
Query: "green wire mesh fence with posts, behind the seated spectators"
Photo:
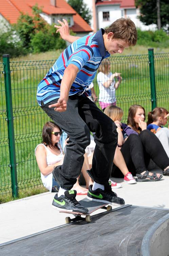
[[[113,56],[111,71],[123,76],[116,91],[117,106],[124,110],[124,121],[131,104],[169,109],[169,54]],[[34,149],[42,138],[42,127],[49,117],[36,101],[37,84],[55,60],[0,63],[0,193],[12,193],[41,184]],[[96,94],[99,94],[96,78]],[[98,104],[98,103],[96,103]]]

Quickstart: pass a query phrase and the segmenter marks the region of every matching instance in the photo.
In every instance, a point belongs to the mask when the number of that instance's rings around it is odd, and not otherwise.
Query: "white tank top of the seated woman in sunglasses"
[[[60,162],[63,158],[63,151],[61,149],[61,146],[58,144],[58,148],[60,150],[60,154],[57,156],[55,154],[53,154],[48,147],[46,147],[43,143],[40,143],[36,146],[35,148],[35,156],[36,156],[36,149],[39,145],[43,145],[46,149],[46,162],[47,162],[47,165],[50,166],[50,165],[54,165],[55,163],[57,162]],[[53,178],[53,175],[52,173],[48,174],[48,175],[43,175],[41,172],[40,172],[40,175],[41,175],[41,180],[43,182],[43,185],[45,188],[47,188],[49,191],[52,191],[52,178]]]

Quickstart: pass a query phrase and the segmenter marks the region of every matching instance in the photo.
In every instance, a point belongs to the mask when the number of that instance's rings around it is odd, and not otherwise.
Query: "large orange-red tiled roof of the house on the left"
[[[17,22],[20,13],[32,16],[32,6],[38,4],[43,13],[51,14],[72,14],[74,32],[91,32],[91,27],[76,11],[64,0],[56,0],[56,7],[50,4],[50,0],[0,0],[0,14],[11,24]]]

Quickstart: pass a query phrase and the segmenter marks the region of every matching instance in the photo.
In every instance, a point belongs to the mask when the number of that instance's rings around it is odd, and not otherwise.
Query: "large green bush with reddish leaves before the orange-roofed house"
[[[65,48],[66,43],[56,33],[54,24],[49,25],[40,16],[42,12],[37,5],[32,7],[33,16],[21,13],[14,26],[22,41],[25,52],[46,52],[52,49]]]

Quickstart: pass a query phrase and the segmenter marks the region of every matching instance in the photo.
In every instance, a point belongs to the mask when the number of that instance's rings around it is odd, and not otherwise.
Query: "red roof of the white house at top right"
[[[97,0],[96,5],[108,5],[108,4],[119,4],[120,8],[135,8],[134,0]]]

